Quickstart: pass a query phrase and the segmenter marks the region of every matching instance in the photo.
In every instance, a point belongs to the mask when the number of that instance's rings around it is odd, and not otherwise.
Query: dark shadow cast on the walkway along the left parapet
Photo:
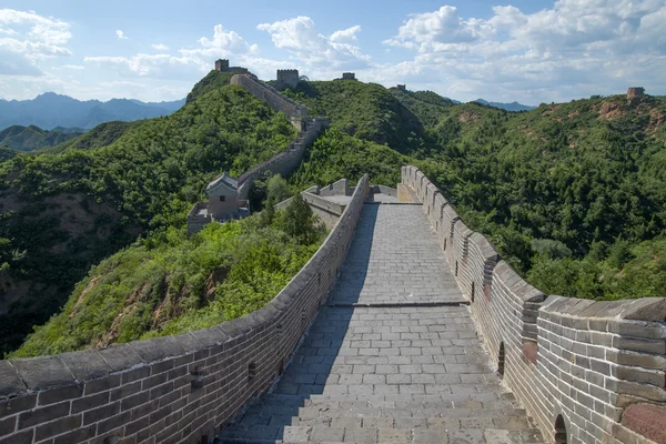
[[[326,395],[346,394],[354,398],[353,393],[341,391],[346,390],[349,385],[339,382],[341,376],[344,379],[343,366],[354,363],[353,353],[357,349],[351,347],[351,341],[361,340],[360,334],[354,334],[353,329],[350,329],[354,321],[359,321],[359,314],[354,316],[355,309],[352,304],[359,301],[367,278],[380,206],[363,205],[354,239],[335,286],[271,393],[262,395],[251,404],[234,424],[222,428],[213,443],[317,441],[311,440],[311,436],[292,436],[290,432],[285,432],[286,427],[292,425],[325,425],[325,420],[306,418],[307,414],[299,418],[300,408],[310,407],[313,396],[320,397],[316,401],[323,403],[326,402]],[[361,357],[364,356],[357,357],[361,364]],[[296,432],[310,433],[303,430]]]

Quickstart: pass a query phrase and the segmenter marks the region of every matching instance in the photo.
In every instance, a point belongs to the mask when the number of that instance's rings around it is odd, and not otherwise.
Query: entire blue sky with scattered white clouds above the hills
[[[664,0],[43,1],[0,9],[0,98],[184,97],[218,58],[467,101],[666,94]]]

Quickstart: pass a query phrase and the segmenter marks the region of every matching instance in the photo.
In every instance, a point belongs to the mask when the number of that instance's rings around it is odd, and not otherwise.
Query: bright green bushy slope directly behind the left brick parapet
[[[286,184],[269,181],[269,200]],[[170,228],[94,266],[60,314],[12,356],[62,353],[215,325],[264,306],[324,234],[296,194],[282,211],[209,224],[186,238]]]

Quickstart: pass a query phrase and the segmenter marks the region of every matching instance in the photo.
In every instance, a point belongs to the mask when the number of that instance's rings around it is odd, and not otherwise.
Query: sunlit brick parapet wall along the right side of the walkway
[[[666,443],[666,299],[546,296],[415,167],[423,203],[497,371],[556,443]]]

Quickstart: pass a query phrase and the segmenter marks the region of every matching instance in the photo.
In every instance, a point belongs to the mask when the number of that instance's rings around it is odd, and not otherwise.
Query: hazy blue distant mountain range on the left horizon
[[[0,99],[0,130],[11,125],[37,125],[47,130],[57,127],[90,130],[112,120],[131,122],[169,115],[184,103],[184,99],[159,103],[129,99],[112,99],[108,102],[80,101],[46,92],[32,100]]]

